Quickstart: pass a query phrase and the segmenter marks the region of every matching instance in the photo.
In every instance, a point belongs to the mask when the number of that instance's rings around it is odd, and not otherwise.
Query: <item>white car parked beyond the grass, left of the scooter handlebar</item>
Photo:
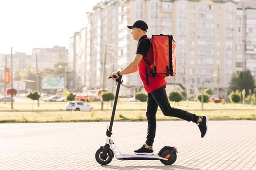
[[[93,110],[93,105],[90,105],[87,102],[72,101],[66,104],[66,110],[91,111]]]

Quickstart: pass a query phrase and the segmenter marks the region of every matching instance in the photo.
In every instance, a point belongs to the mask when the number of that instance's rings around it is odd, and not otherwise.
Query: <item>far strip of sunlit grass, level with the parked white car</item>
[[[37,101],[34,102],[33,109],[35,111],[62,111],[65,110],[66,102],[40,102],[40,106],[37,106]],[[90,103],[94,106],[95,110],[99,110],[101,108],[100,102],[92,102]],[[177,107],[184,110],[200,110],[201,103],[200,102],[186,102],[182,101],[179,103],[170,102],[172,107]],[[226,103],[223,105],[222,103],[215,104],[213,102],[204,103],[205,110],[255,110],[256,105],[252,106],[250,104],[242,104],[242,103]],[[143,102],[142,105],[140,102],[118,102],[117,110],[146,110],[147,103]],[[14,109],[11,109],[10,102],[4,104],[0,102],[0,112],[2,111],[30,111],[32,109],[32,103],[15,103],[14,102]],[[104,109],[111,110],[111,102],[104,103]]]

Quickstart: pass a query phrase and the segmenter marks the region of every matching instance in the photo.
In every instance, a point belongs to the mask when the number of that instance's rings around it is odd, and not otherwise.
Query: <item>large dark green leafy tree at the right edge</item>
[[[250,70],[241,71],[232,75],[230,88],[232,91],[242,91],[245,89],[246,95],[249,94],[249,89],[255,88],[254,78]]]

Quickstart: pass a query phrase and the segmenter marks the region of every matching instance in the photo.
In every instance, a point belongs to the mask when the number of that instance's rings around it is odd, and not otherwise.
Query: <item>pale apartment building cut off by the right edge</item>
[[[256,3],[239,1],[236,9],[236,71],[249,69],[256,80]]]

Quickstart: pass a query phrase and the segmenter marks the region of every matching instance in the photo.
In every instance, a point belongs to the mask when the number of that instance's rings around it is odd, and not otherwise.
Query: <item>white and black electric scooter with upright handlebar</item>
[[[112,78],[112,77],[109,77],[109,78]],[[113,78],[117,78],[117,77],[113,75]],[[164,165],[172,165],[173,163],[175,163],[177,159],[176,153],[178,153],[176,147],[165,146],[158,153],[154,155],[123,154],[118,150],[118,147],[116,146],[114,140],[111,138],[111,135],[112,135],[112,126],[113,126],[113,121],[114,121],[117,102],[118,102],[118,93],[119,93],[120,85],[122,84],[122,76],[116,79],[115,82],[118,83],[117,84],[118,86],[117,86],[115,101],[113,105],[110,125],[107,128],[107,132],[106,132],[106,135],[107,135],[106,144],[104,146],[100,146],[97,152],[95,153],[96,161],[101,165],[107,165],[112,161],[113,157],[116,156],[118,160],[160,160],[161,163],[163,163]]]

